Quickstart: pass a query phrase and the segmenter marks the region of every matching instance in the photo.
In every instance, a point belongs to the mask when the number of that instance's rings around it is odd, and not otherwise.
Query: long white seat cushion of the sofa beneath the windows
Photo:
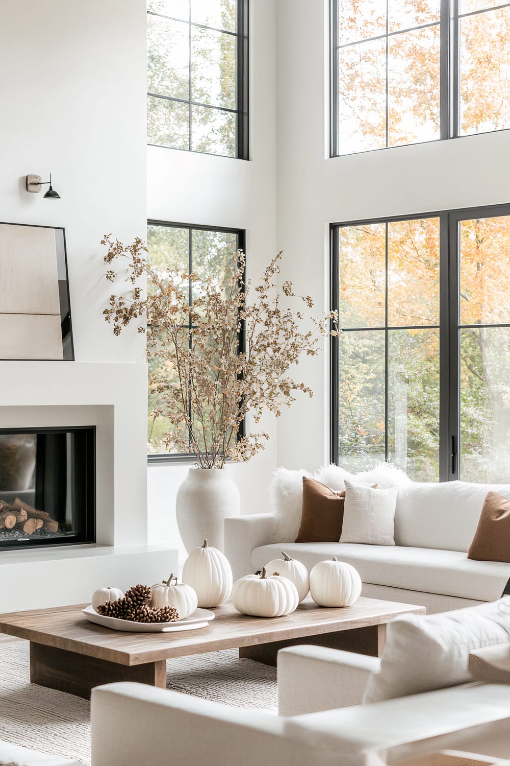
[[[472,561],[459,551],[339,542],[261,545],[252,552],[253,571],[278,558],[282,550],[309,571],[318,561],[336,556],[352,564],[365,583],[474,601],[495,601],[510,578],[510,564]]]

